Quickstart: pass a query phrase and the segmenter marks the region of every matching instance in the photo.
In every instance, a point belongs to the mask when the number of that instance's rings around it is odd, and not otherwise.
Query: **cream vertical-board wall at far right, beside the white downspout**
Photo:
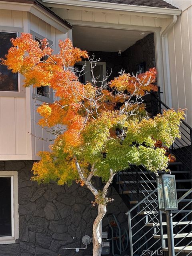
[[[192,1],[167,1],[183,11],[168,32],[172,106],[187,108],[192,126]]]

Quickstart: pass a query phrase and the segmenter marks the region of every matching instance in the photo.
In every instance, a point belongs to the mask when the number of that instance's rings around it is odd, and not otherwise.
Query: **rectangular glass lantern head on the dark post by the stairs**
[[[159,210],[178,210],[175,176],[164,174],[157,177]]]

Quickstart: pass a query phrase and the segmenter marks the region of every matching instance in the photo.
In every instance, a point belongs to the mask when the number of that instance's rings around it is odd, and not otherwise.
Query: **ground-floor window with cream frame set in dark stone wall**
[[[0,172],[0,244],[18,238],[18,172]]]

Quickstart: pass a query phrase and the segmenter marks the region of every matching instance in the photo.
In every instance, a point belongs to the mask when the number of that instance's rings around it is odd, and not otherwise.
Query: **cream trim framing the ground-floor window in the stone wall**
[[[18,213],[18,172],[2,171],[0,177],[11,177],[11,222],[12,236],[0,237],[0,244],[15,244],[19,238],[19,213]]]

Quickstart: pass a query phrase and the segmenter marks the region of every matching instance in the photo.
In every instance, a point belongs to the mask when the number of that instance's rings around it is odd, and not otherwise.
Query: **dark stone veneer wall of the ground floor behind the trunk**
[[[0,256],[91,256],[87,250],[62,250],[62,247],[83,248],[82,236],[92,237],[92,224],[97,215],[91,201],[92,193],[79,184],[58,186],[54,182],[32,182],[32,161],[0,161],[0,171],[18,171],[19,239],[16,244],[0,245]],[[127,208],[113,187],[108,213],[113,212],[120,223],[127,225]],[[107,224],[106,219],[103,221]],[[127,227],[127,226],[126,226]],[[76,240],[73,240],[76,237]]]

